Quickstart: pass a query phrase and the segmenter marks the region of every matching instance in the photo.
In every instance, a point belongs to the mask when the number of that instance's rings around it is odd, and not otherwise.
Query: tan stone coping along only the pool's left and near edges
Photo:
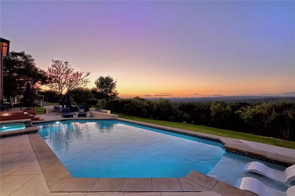
[[[28,134],[50,192],[203,192],[220,195],[252,196],[253,194],[201,174],[190,172],[184,178],[76,178],[39,133]]]

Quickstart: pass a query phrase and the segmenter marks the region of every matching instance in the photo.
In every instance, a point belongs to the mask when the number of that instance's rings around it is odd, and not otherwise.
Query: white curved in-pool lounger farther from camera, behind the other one
[[[284,172],[267,167],[260,162],[249,162],[245,165],[243,172],[255,172],[273,180],[291,183],[295,180],[295,165],[288,167]]]

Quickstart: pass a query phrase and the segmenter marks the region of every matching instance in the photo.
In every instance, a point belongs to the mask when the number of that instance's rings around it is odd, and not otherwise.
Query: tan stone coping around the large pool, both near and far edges
[[[166,126],[154,125],[150,123],[142,123],[122,118],[67,118],[59,121],[69,120],[118,120],[127,123],[133,123],[142,126],[148,126],[165,131],[176,132],[189,136],[198,137],[222,143],[226,149],[232,149],[237,152],[245,152],[250,156],[260,156],[267,158],[267,153],[258,149],[249,147],[240,140],[214,136],[210,134],[202,134],[194,131],[176,129]],[[33,124],[54,122],[36,121]],[[72,177],[65,166],[60,162],[55,153],[50,149],[45,140],[39,133],[29,134],[28,138],[32,145],[33,151],[40,164],[42,173],[44,174],[47,186],[51,192],[200,192],[214,191],[223,196],[230,195],[249,195],[244,190],[240,190],[232,185],[201,174],[196,171],[190,172],[184,178],[76,178]],[[245,149],[246,148],[246,149]],[[228,151],[228,150],[227,150]],[[236,153],[237,154],[237,153]],[[247,155],[245,154],[245,155]],[[275,153],[273,153],[275,154]],[[243,154],[244,155],[244,154]],[[280,154],[278,154],[280,155]],[[290,163],[292,160],[285,160],[282,156],[279,159],[281,162]],[[268,156],[272,157],[272,156]],[[295,162],[294,157],[293,162]]]

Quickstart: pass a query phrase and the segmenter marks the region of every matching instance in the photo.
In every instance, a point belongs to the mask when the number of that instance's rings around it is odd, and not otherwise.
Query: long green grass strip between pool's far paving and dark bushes
[[[157,124],[157,125],[162,125],[162,126],[169,126],[169,127],[178,128],[178,129],[186,129],[189,131],[196,131],[196,132],[205,133],[205,134],[212,134],[212,135],[230,137],[230,138],[235,138],[235,139],[243,139],[243,140],[255,141],[255,142],[259,142],[259,143],[263,143],[263,144],[270,144],[270,145],[274,145],[274,146],[281,146],[281,147],[285,147],[285,148],[295,149],[295,142],[293,142],[293,141],[286,141],[286,140],[281,140],[281,139],[276,139],[276,138],[258,136],[258,135],[248,134],[248,133],[243,133],[243,132],[238,132],[238,131],[216,129],[216,128],[212,128],[212,127],[192,125],[192,124],[186,124],[186,123],[157,121],[157,120],[153,120],[153,119],[149,119],[149,118],[127,116],[127,115],[124,115],[121,113],[119,113],[119,118],[125,118],[125,119],[134,120],[134,121],[141,121],[141,122],[145,122],[145,123],[152,123],[152,124]]]

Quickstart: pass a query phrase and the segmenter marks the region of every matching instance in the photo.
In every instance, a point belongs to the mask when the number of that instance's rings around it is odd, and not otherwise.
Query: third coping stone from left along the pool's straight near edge
[[[122,191],[152,191],[152,179],[125,178]]]

